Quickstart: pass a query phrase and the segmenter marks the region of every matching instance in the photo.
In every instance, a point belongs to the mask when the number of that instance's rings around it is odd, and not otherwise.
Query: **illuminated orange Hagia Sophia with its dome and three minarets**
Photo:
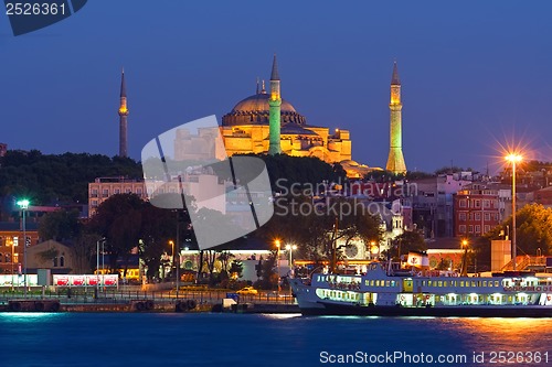
[[[123,76],[124,77],[124,76]],[[360,164],[351,156],[351,133],[347,129],[330,131],[328,127],[307,123],[307,118],[280,96],[280,77],[276,55],[269,79],[269,90],[263,80],[253,96],[238,101],[222,117],[220,132],[229,156],[247,153],[288,154],[316,156],[327,163],[340,163],[351,179],[362,179],[367,173],[381,170]],[[124,100],[123,100],[124,98]],[[405,173],[402,152],[401,82],[396,62],[393,65],[390,100],[390,152],[385,169],[395,174]],[[120,152],[126,154],[126,89],[121,85]],[[174,160],[219,158],[213,131],[190,133],[178,129],[174,138]],[[193,149],[201,147],[201,149]],[[206,149],[206,150],[205,150]],[[190,152],[193,152],[190,154]]]

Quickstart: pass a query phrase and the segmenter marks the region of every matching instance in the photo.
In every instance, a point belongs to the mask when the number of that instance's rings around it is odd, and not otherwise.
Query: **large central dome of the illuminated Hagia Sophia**
[[[230,114],[222,117],[223,126],[235,125],[268,125],[270,96],[266,91],[257,93],[238,101]],[[299,115],[294,106],[285,99],[282,99],[280,107],[282,125],[297,123],[305,125],[305,116]]]

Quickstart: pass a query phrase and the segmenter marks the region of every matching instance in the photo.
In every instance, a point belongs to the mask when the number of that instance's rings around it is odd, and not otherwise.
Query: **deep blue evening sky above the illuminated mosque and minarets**
[[[408,170],[500,168],[521,140],[552,161],[550,1],[91,0],[14,37],[0,14],[0,142],[44,153],[118,152],[120,68],[129,153],[160,132],[221,118],[267,79],[307,122],[352,133],[384,166],[393,60]]]

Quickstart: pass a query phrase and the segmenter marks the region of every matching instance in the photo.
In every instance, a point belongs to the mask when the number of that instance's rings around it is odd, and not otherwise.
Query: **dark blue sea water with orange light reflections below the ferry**
[[[17,367],[552,366],[550,341],[552,319],[0,313]]]

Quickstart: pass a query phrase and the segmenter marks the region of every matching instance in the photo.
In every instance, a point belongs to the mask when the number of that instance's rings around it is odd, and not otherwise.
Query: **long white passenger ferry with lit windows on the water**
[[[372,262],[361,276],[290,279],[304,315],[552,317],[552,274],[392,271]]]

